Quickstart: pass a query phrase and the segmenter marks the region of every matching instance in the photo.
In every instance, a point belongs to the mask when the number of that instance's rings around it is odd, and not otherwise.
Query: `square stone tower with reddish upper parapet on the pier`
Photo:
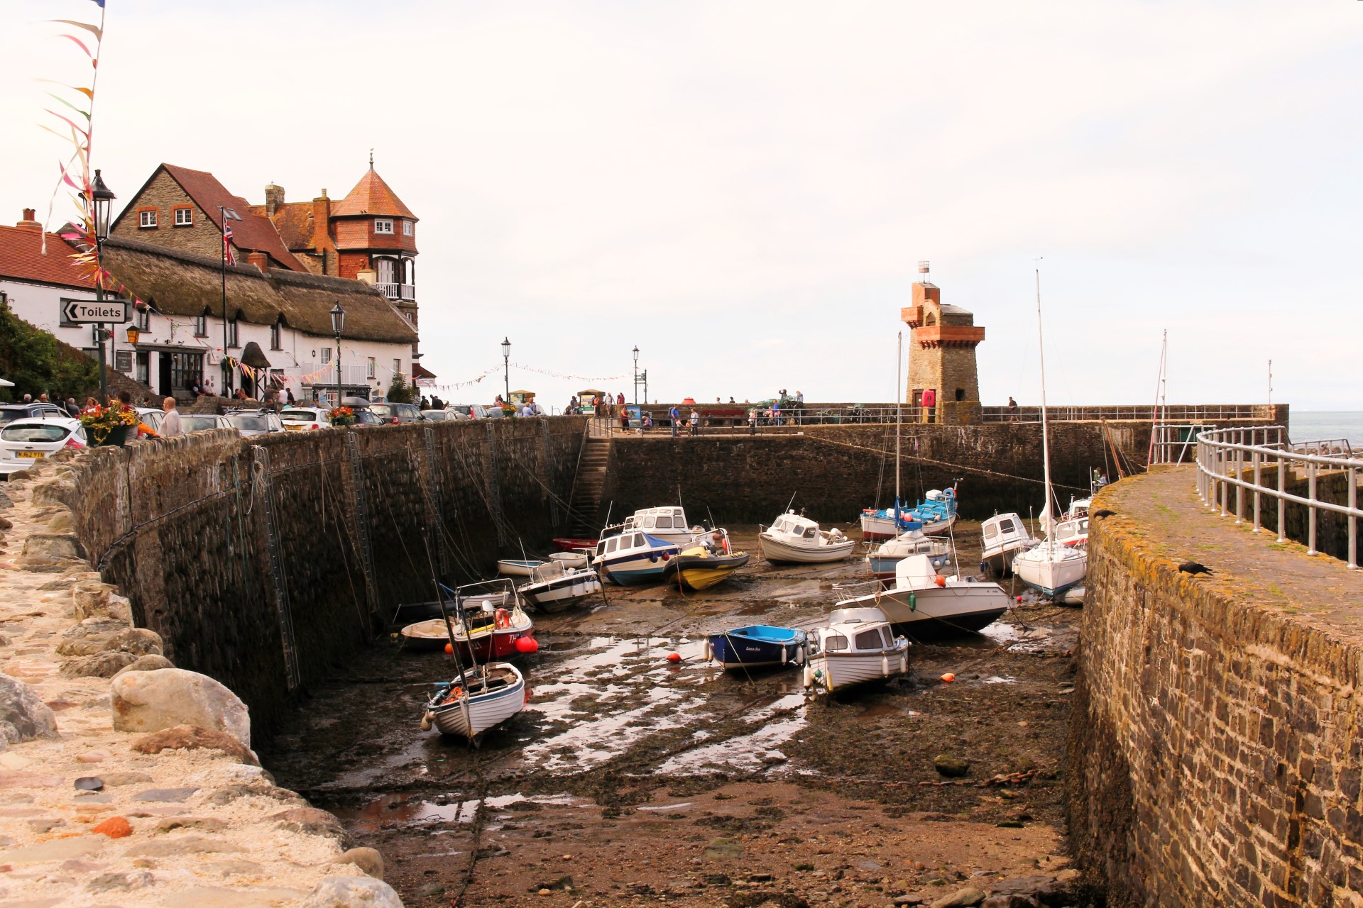
[[[943,306],[942,290],[928,282],[928,263],[919,263],[913,285],[913,305],[900,310],[909,325],[909,384],[906,399],[920,406],[923,392],[936,393],[938,422],[969,422],[980,407],[980,376],[975,347],[984,340],[984,328],[975,314],[960,306]]]

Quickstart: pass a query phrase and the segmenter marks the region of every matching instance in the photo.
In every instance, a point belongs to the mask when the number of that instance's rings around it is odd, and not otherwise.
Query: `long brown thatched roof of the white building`
[[[104,265],[113,279],[158,312],[172,316],[221,316],[222,271],[206,259],[136,240],[110,237]],[[413,343],[416,329],[387,297],[361,280],[327,278],[255,265],[228,265],[228,316],[259,325],[284,320],[318,338],[331,335],[331,306],[345,309],[345,335],[353,340]]]

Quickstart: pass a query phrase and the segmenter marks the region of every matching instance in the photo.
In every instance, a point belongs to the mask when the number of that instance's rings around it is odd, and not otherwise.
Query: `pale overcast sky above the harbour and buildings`
[[[45,214],[79,83],[0,3],[0,222]],[[442,395],[893,400],[917,263],[985,404],[1363,410],[1363,3],[108,0],[94,166],[263,201],[375,167],[417,225]],[[53,223],[70,216],[59,196]],[[905,336],[908,347],[908,336]],[[540,372],[532,372],[532,369]],[[552,373],[552,374],[544,374]],[[563,376],[563,377],[559,377]],[[641,389],[642,396],[642,389]]]

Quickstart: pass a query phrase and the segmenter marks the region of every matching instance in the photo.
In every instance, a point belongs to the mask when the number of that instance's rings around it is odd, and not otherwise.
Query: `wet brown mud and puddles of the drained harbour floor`
[[[536,615],[530,701],[476,749],[418,728],[447,658],[391,643],[315,690],[266,765],[382,851],[408,905],[931,904],[1020,877],[1088,904],[1062,836],[1077,610],[1024,594],[983,634],[916,641],[906,678],[811,701],[796,670],[703,662],[705,634],[816,623],[866,565],[735,542],[752,562],[702,594]],[[977,525],[957,543],[979,573]]]

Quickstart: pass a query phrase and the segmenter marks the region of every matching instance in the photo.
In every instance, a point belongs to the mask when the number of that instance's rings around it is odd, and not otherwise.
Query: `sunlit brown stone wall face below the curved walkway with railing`
[[[1089,538],[1077,856],[1112,905],[1363,905],[1363,636],[1317,621],[1323,604],[1266,603],[1257,581],[1152,554],[1159,524],[1123,515],[1157,475],[1094,501],[1118,517]]]

